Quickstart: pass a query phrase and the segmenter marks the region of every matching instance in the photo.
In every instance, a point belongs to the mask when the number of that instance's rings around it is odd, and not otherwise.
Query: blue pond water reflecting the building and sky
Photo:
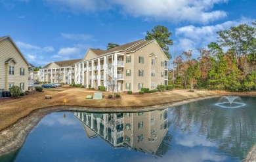
[[[242,161],[256,143],[256,98],[232,102],[234,108],[211,98],[137,113],[51,113],[0,161]]]

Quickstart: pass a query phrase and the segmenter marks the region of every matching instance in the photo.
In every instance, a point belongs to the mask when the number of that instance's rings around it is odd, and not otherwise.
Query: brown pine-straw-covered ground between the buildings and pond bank
[[[70,106],[85,106],[93,107],[95,109],[133,109],[140,106],[152,106],[159,104],[166,104],[169,102],[186,100],[189,98],[197,98],[202,96],[213,96],[216,92],[213,91],[196,91],[188,92],[184,90],[155,92],[151,94],[127,94],[126,92],[119,93],[121,98],[117,100],[107,99],[111,92],[103,92],[105,96],[102,100],[88,100],[87,95],[93,95],[98,92],[90,89],[81,88],[56,88],[44,89],[43,92],[30,92],[28,96],[20,98],[11,98],[9,100],[0,99],[0,131],[12,125],[18,119],[26,117],[33,110],[39,108],[49,108],[53,106],[64,105],[64,98],[66,98],[66,105]],[[53,99],[45,99],[45,95],[51,95]]]

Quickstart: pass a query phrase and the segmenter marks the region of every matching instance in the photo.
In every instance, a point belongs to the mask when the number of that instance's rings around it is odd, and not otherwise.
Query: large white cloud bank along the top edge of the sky
[[[170,22],[200,22],[207,24],[221,18],[227,13],[213,10],[214,5],[228,3],[228,0],[45,0],[58,9],[71,12],[99,12],[120,9],[124,14],[142,17],[143,20],[168,20]],[[146,4],[146,5],[145,5]]]

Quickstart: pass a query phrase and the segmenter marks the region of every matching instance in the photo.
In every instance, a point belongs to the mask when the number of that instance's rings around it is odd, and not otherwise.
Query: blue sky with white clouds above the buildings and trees
[[[192,50],[196,58],[217,31],[251,24],[255,7],[254,0],[0,0],[0,36],[11,35],[29,62],[45,66],[144,39],[161,25],[173,33],[171,55]]]

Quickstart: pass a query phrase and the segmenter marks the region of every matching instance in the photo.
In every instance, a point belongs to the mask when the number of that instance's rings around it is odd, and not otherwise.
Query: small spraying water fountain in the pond
[[[240,108],[246,104],[244,104],[240,96],[222,96],[215,105],[221,108]]]

